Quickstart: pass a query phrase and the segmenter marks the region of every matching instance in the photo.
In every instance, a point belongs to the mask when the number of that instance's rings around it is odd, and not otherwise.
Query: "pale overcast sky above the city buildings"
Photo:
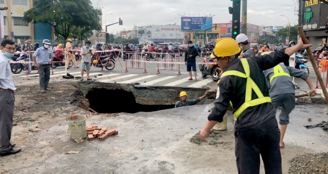
[[[94,8],[103,12],[103,30],[105,24],[118,22],[123,25],[108,27],[108,32],[116,34],[122,30],[132,30],[134,26],[181,25],[182,16],[213,16],[213,24],[229,23],[232,14],[230,0],[90,0]],[[298,24],[298,0],[250,0],[247,1],[247,23],[258,26],[291,26]],[[111,14],[112,13],[112,14]],[[281,16],[285,15],[285,16]],[[286,17],[287,16],[287,17]],[[105,21],[106,17],[106,21]]]

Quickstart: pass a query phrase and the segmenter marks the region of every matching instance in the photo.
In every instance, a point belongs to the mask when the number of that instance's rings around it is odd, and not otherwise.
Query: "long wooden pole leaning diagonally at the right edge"
[[[300,27],[300,26],[297,27],[297,30],[298,30],[298,33],[299,33],[300,37],[301,37],[302,40],[303,40],[303,43],[304,43],[304,44],[309,44],[309,40],[306,39],[302,27]],[[310,61],[311,61],[312,67],[313,67],[313,69],[314,69],[314,72],[315,72],[316,75],[317,75],[317,78],[318,78],[318,81],[319,81],[319,83],[320,83],[321,90],[322,90],[322,92],[323,92],[324,98],[326,99],[326,104],[328,104],[328,93],[327,93],[327,90],[326,90],[326,88],[325,88],[325,85],[324,85],[324,82],[323,82],[323,80],[322,80],[322,77],[321,77],[321,75],[320,75],[319,69],[318,69],[318,67],[317,67],[316,60],[314,59],[313,55],[311,54],[312,51],[311,51],[310,48],[307,48],[307,49],[306,49],[306,52],[308,52],[308,55],[309,55],[309,58],[310,58]]]

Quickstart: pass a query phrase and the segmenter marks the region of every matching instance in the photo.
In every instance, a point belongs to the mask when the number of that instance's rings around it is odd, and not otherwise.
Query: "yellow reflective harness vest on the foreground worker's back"
[[[262,103],[271,102],[270,97],[264,97],[261,90],[258,88],[256,83],[250,77],[250,66],[247,59],[240,59],[242,67],[244,68],[245,74],[236,70],[230,70],[222,73],[221,78],[224,76],[238,76],[241,78],[246,78],[246,91],[245,91],[245,102],[234,112],[234,117],[238,118],[239,115],[246,110],[246,108],[251,106],[256,106]],[[257,95],[257,99],[252,100],[252,90]]]

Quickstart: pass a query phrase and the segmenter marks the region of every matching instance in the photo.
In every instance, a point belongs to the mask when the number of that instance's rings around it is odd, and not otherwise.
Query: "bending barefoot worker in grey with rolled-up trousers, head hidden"
[[[264,54],[270,54],[271,52],[264,52]],[[281,112],[279,115],[280,124],[280,142],[279,147],[284,148],[285,143],[283,137],[285,135],[287,125],[289,124],[289,114],[295,108],[295,85],[291,77],[298,77],[303,79],[310,88],[308,95],[315,96],[316,90],[312,84],[309,74],[292,67],[286,67],[283,63],[279,63],[274,68],[263,71],[265,80],[269,87],[269,95],[271,103],[277,111],[281,104]]]

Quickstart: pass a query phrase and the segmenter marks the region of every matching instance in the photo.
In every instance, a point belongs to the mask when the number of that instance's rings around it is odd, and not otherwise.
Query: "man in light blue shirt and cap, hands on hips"
[[[39,47],[33,54],[33,62],[39,71],[39,85],[42,93],[50,91],[48,87],[50,80],[50,65],[52,64],[53,57],[55,56],[50,47],[50,40],[44,39],[43,47]],[[37,57],[37,61],[36,61]]]

